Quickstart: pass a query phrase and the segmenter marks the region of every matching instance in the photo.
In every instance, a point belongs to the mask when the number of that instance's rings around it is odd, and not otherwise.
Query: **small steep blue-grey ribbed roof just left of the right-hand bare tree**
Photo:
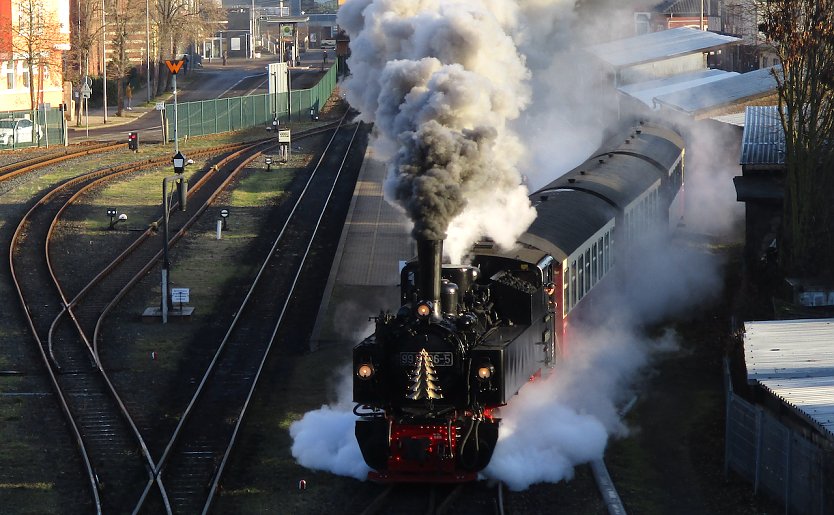
[[[748,106],[741,137],[742,165],[785,164],[785,131],[776,106]]]

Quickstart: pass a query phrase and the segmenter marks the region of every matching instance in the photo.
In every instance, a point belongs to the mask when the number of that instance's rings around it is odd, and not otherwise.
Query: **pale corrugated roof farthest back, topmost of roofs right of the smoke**
[[[708,52],[737,41],[739,38],[732,36],[680,27],[594,45],[588,51],[620,68]]]

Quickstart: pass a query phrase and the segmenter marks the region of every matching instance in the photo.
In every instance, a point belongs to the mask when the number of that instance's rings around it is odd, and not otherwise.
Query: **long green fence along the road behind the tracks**
[[[177,103],[177,136],[204,136],[267,126],[276,116],[279,121],[309,120],[311,110],[318,114],[330,98],[336,88],[337,78],[338,69],[332,66],[309,89]],[[173,141],[174,104],[166,104],[165,113],[167,140]]]

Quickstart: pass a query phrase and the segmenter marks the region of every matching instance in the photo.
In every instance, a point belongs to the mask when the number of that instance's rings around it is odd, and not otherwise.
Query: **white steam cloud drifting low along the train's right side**
[[[678,348],[667,331],[650,339],[643,324],[696,309],[720,293],[721,261],[697,247],[650,242],[623,293],[599,302],[599,319],[572,327],[564,361],[545,380],[525,385],[501,409],[501,429],[483,475],[512,490],[569,480],[577,465],[601,459],[609,436],[626,436],[618,408],[652,357]]]

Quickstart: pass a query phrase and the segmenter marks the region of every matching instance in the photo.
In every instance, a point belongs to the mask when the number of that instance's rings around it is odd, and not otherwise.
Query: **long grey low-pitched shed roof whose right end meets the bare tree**
[[[655,97],[664,107],[697,116],[708,111],[747,102],[776,92],[771,68],[742,73],[724,80]]]

